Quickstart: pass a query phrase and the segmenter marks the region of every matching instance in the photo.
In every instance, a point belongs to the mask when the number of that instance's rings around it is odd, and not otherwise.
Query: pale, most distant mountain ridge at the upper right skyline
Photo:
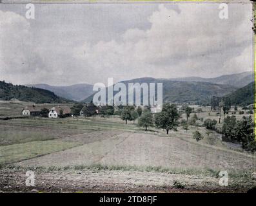
[[[237,88],[246,86],[248,82],[253,81],[253,72],[246,71],[242,73],[234,73],[231,75],[222,75],[215,78],[201,78],[201,77],[183,77],[173,78],[170,80],[185,81],[185,82],[211,82],[214,84],[229,84]]]

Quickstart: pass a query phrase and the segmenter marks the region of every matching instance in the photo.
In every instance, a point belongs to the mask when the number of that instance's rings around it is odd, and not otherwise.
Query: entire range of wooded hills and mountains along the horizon
[[[128,83],[162,83],[163,102],[209,104],[212,96],[230,97],[234,104],[251,104],[254,97],[252,86],[253,73],[243,72],[231,75],[222,75],[215,78],[183,77],[173,79],[154,79],[144,77],[122,81]],[[251,84],[250,84],[251,83]],[[253,84],[254,85],[254,84]],[[91,84],[74,84],[72,86],[50,86],[48,84],[28,84],[14,86],[1,82],[0,98],[43,102],[90,102],[95,91]],[[114,91],[115,95],[117,91]],[[128,94],[127,94],[128,96]],[[157,97],[157,93],[155,94]],[[126,97],[128,99],[128,97]],[[135,97],[133,97],[135,100]],[[142,99],[141,99],[142,101]]]

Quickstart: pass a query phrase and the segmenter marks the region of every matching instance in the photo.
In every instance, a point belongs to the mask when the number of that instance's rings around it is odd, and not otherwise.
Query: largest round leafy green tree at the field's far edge
[[[155,116],[155,125],[158,128],[166,129],[166,134],[170,129],[177,129],[179,113],[175,104],[164,104],[161,113]]]

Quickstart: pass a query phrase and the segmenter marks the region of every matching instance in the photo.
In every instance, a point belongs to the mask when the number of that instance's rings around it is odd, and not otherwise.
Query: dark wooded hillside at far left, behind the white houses
[[[13,85],[0,81],[0,99],[10,100],[17,98],[21,101],[30,101],[35,103],[64,103],[70,102],[64,98],[58,97],[52,91],[39,88],[28,88],[21,85]]]

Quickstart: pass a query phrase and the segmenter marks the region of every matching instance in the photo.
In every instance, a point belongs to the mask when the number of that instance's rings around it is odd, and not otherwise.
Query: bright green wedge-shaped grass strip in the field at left
[[[0,147],[0,164],[10,164],[21,160],[28,160],[43,154],[63,151],[79,145],[79,142],[47,140],[26,142]]]

